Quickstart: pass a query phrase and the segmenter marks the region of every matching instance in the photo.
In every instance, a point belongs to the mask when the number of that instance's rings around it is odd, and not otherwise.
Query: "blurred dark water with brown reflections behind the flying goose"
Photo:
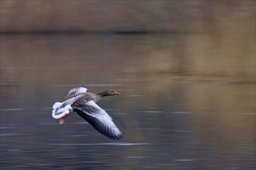
[[[254,83],[188,73],[189,56],[203,52],[180,49],[184,41],[2,35],[1,168],[254,169]],[[122,94],[99,106],[123,140],[102,136],[77,114],[62,125],[51,117],[52,104],[81,85]]]

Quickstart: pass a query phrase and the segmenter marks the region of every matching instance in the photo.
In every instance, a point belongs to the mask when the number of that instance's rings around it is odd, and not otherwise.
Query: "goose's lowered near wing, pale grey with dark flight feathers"
[[[116,127],[109,114],[95,104],[93,100],[86,102],[82,107],[78,107],[74,111],[88,121],[89,124],[92,124],[92,127],[101,134],[112,139],[123,138],[123,133]]]

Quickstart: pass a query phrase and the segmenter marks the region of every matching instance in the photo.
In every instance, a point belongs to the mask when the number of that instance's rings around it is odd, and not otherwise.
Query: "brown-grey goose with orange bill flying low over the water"
[[[123,137],[123,133],[116,127],[109,114],[96,104],[102,97],[119,94],[115,90],[106,90],[95,94],[88,93],[85,87],[73,88],[64,94],[67,100],[54,104],[52,116],[55,119],[60,119],[59,124],[64,124],[64,120],[72,112],[76,112],[101,134],[115,140],[120,139]]]

